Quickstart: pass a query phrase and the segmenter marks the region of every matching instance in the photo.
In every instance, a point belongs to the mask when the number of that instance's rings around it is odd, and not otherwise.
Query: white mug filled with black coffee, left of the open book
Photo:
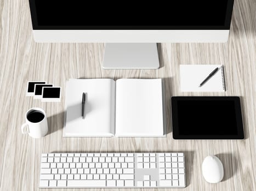
[[[32,138],[42,138],[48,133],[47,117],[41,108],[31,108],[26,112],[26,123],[22,124],[22,134]]]

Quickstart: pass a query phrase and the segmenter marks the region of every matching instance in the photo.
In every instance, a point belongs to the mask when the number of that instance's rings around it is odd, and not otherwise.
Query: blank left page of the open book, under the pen
[[[86,117],[82,118],[82,94]],[[66,124],[63,136],[113,136],[115,134],[115,81],[70,79],[66,85]]]

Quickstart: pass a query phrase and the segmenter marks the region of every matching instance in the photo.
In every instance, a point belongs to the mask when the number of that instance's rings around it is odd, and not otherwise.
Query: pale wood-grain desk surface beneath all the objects
[[[255,10],[254,0],[235,1],[230,38],[225,44],[159,44],[158,70],[103,70],[104,44],[36,44],[29,1],[0,1],[0,189],[39,190],[39,159],[43,152],[181,151],[186,158],[184,190],[256,190]],[[224,64],[227,91],[180,92],[180,64]],[[240,96],[246,138],[173,140],[169,104],[167,138],[62,138],[66,80],[102,77],[163,78],[167,103],[172,96]],[[61,102],[42,103],[25,97],[29,80],[61,86]],[[22,135],[20,130],[26,110],[35,106],[48,116],[49,134],[42,139]],[[224,164],[221,183],[203,180],[201,165],[209,154],[215,154]]]

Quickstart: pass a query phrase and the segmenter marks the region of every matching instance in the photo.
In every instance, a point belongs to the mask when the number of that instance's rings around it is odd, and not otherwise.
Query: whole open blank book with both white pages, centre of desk
[[[162,86],[162,79],[70,79],[63,136],[166,136]]]

